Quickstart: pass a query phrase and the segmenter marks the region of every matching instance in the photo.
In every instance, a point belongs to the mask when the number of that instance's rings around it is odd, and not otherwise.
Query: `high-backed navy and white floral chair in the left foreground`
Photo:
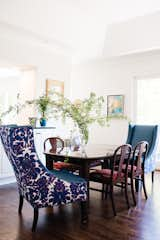
[[[72,173],[49,171],[38,159],[32,127],[1,126],[0,136],[18,184],[19,214],[23,199],[34,209],[32,231],[36,230],[39,208],[48,206],[80,202],[82,223],[87,222],[86,181]]]

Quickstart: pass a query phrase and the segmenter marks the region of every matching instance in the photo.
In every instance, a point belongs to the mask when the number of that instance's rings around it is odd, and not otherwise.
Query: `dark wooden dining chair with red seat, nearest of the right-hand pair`
[[[124,144],[119,146],[115,152],[113,157],[111,158],[110,168],[104,169],[96,169],[92,171],[89,175],[90,181],[102,183],[103,186],[106,186],[106,189],[102,188],[102,194],[107,197],[109,193],[110,199],[112,202],[113,213],[116,216],[115,202],[113,196],[113,188],[118,183],[125,187],[125,197],[128,208],[129,200],[128,200],[128,163],[131,156],[132,147],[129,144]],[[125,166],[125,169],[124,169]],[[93,188],[91,188],[93,189]],[[95,189],[97,190],[97,189]]]

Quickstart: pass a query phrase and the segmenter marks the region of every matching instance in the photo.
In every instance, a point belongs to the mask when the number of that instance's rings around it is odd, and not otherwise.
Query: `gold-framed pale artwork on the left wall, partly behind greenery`
[[[64,94],[64,82],[59,80],[46,80],[46,95],[49,94],[49,92],[58,92],[60,94]]]

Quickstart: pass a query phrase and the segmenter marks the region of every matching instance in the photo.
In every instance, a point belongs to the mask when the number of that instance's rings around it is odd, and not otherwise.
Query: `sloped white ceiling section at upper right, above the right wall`
[[[160,49],[160,12],[108,26],[105,57]]]

